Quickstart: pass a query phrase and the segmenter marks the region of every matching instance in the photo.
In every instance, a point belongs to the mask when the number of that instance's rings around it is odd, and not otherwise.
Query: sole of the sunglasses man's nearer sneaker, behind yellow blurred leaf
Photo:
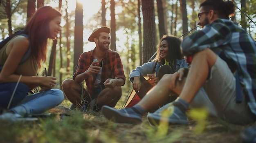
[[[150,123],[150,125],[153,126],[158,126],[160,122],[168,122],[169,125],[171,124],[188,124],[187,120],[173,120],[173,119],[169,119],[169,118],[161,118],[159,117],[159,115],[155,115],[155,114],[148,114],[147,115],[147,119],[148,122]]]

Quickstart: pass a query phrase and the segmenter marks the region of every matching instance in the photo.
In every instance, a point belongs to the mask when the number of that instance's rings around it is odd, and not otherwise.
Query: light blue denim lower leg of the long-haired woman
[[[18,106],[10,110],[22,116],[41,114],[58,106],[63,100],[64,94],[61,90],[51,89],[26,96]]]

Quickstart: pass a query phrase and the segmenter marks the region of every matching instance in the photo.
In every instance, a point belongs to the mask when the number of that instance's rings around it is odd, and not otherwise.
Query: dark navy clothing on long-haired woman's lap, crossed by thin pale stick
[[[16,84],[16,82],[0,84],[0,108],[7,109]],[[28,95],[28,92],[29,87],[26,84],[19,83],[13,95],[10,108],[17,106]]]

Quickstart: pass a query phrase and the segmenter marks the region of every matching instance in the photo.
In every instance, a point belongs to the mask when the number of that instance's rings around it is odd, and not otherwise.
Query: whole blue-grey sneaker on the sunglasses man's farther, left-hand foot
[[[117,110],[109,106],[102,106],[101,112],[107,119],[116,123],[139,124],[142,122],[141,115],[131,108]]]

